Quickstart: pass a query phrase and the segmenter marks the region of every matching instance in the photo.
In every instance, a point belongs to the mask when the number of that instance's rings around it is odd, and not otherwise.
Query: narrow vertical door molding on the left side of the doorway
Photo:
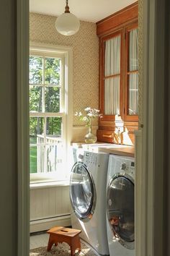
[[[18,244],[17,256],[30,252],[29,174],[29,1],[17,0],[17,162]]]

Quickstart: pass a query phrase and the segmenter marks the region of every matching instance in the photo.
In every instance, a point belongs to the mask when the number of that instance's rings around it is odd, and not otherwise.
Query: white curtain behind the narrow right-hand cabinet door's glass
[[[129,71],[138,71],[138,29],[130,31]],[[129,115],[138,114],[138,72],[129,75]]]

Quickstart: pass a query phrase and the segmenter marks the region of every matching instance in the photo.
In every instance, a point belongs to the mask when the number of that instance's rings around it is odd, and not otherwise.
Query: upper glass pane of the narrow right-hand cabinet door
[[[129,71],[138,70],[138,29],[129,33]]]

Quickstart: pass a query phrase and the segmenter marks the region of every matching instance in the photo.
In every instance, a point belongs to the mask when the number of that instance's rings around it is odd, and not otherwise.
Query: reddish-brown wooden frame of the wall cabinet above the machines
[[[138,2],[116,12],[111,16],[97,22],[97,35],[99,36],[99,108],[103,118],[99,119],[97,138],[103,142],[115,142],[116,129],[123,126],[121,131],[121,143],[134,144],[134,129],[138,129],[138,116],[128,115],[128,44],[125,36],[129,30],[138,27]],[[121,35],[120,46],[120,115],[104,115],[104,52],[106,40]],[[110,77],[114,77],[110,76]],[[108,77],[107,77],[108,78]],[[124,140],[124,134],[128,131],[128,142]]]

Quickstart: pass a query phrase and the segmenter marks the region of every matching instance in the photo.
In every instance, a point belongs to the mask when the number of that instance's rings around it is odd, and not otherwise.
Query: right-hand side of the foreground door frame
[[[135,133],[136,256],[165,255],[166,7],[166,0],[143,1],[143,72],[140,74],[143,119]]]

